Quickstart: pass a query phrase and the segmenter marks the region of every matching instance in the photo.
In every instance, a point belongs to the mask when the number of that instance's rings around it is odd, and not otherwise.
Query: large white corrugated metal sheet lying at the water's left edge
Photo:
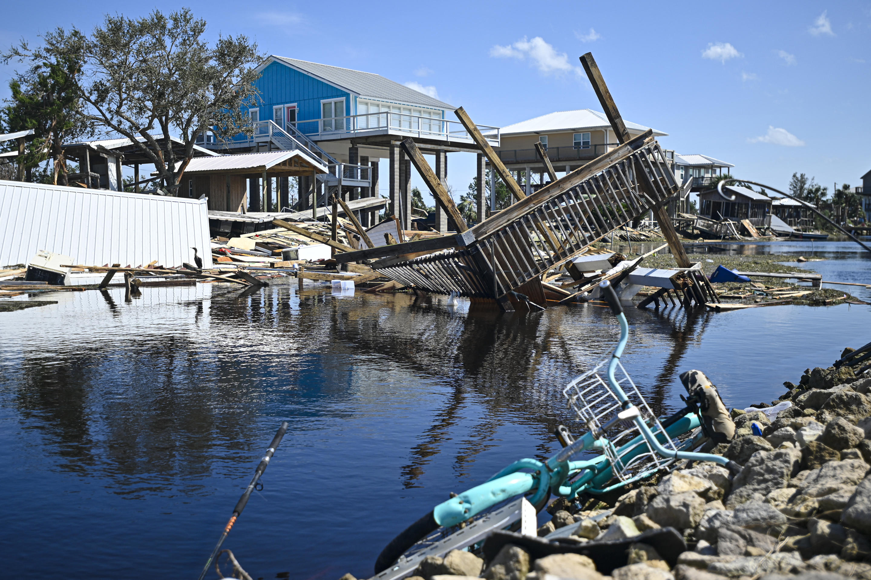
[[[212,266],[205,199],[168,198],[0,180],[0,266],[27,264],[37,250],[78,264]]]

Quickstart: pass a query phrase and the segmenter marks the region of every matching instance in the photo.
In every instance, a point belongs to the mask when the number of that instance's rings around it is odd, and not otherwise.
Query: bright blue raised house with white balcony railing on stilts
[[[389,159],[390,202],[406,229],[411,227],[411,161],[399,143],[410,137],[422,152],[435,155],[442,179],[448,152],[480,152],[463,125],[448,118],[456,107],[381,75],[275,55],[257,71],[260,98],[247,108],[253,138],[220,144],[206,134],[200,143],[228,153],[306,149],[326,162],[334,178],[353,180],[351,186],[336,185],[346,199],[376,196],[378,160]],[[497,127],[479,128],[491,145],[499,145]],[[300,210],[313,198],[319,206],[325,203],[324,183],[300,178]],[[447,215],[441,209],[436,213],[436,228],[445,231]],[[361,218],[368,225],[369,216]]]

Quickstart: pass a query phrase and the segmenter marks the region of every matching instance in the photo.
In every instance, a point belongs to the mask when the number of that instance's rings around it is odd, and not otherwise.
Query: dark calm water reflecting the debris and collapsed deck
[[[829,260],[805,266],[827,280],[871,281],[854,246],[814,253]],[[58,304],[0,314],[10,577],[196,577],[283,420],[265,488],[225,547],[255,578],[368,577],[383,545],[449,491],[555,451],[562,386],[618,335],[594,305],[503,315],[314,285],[40,297]],[[679,407],[689,368],[746,407],[871,341],[869,308],[630,308],[624,363],[663,412]]]

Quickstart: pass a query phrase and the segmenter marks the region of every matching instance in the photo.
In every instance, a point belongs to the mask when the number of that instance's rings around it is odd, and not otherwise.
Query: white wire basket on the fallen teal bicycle
[[[577,377],[563,389],[567,407],[575,411],[577,419],[584,422],[588,429],[601,429],[602,425],[623,408],[617,393],[611,389],[607,379],[599,374],[600,371],[604,374],[608,362],[610,359],[598,363],[590,372]],[[653,435],[657,436],[663,447],[676,450],[672,438],[665,433],[656,414],[638,392],[638,387],[619,361],[614,375],[626,397],[638,408],[641,418]],[[617,429],[622,430],[611,435]],[[612,472],[621,482],[643,477],[674,462],[672,457],[658,455],[634,422],[618,423],[606,437],[604,455],[608,456]]]

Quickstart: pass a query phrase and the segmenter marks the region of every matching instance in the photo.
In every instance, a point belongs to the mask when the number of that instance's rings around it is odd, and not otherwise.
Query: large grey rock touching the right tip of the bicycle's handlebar
[[[735,475],[726,507],[762,500],[774,489],[786,487],[789,478],[799,472],[800,460],[801,452],[795,448],[756,452]]]

